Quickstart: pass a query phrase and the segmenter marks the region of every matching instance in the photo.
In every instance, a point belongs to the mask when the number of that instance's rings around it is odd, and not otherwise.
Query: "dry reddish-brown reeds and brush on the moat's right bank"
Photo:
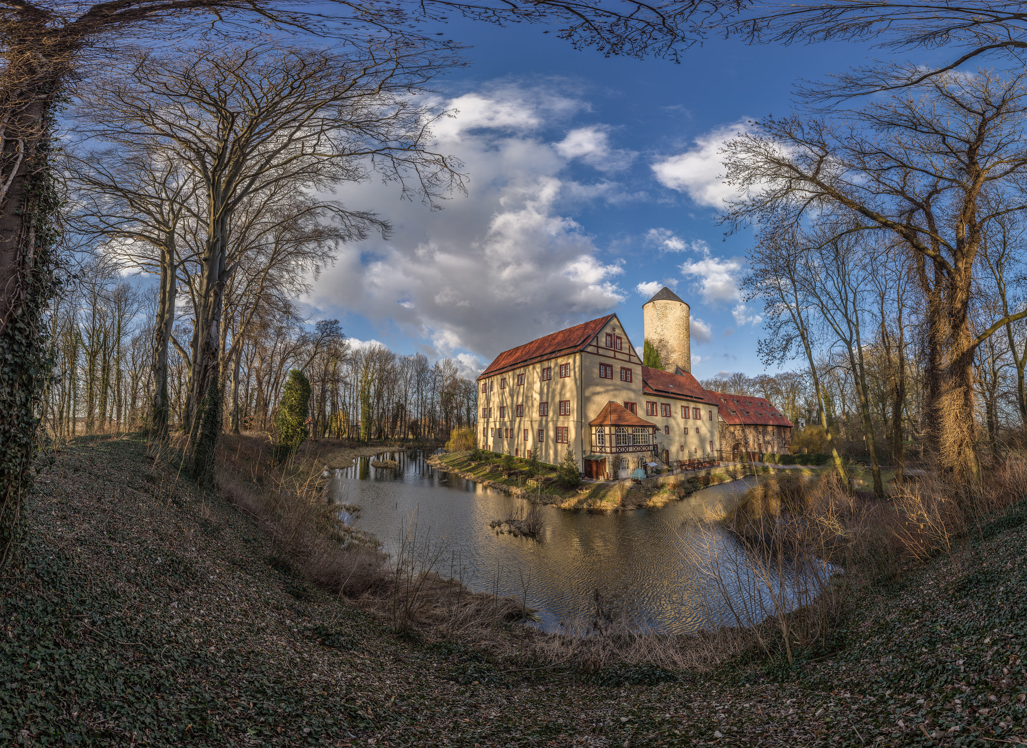
[[[827,644],[855,591],[895,578],[903,564],[952,552],[1024,496],[1027,462],[1019,458],[978,485],[925,474],[884,501],[847,490],[830,471],[816,480],[776,475],[744,494],[721,521],[743,553],[725,556],[710,536],[707,553],[693,560],[714,579],[736,625],[766,655],[782,647],[791,664],[795,648]]]

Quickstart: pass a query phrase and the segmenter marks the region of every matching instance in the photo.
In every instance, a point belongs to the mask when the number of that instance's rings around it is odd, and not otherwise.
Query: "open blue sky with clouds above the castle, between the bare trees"
[[[716,223],[718,144],[790,111],[800,78],[873,50],[714,40],[674,65],[575,51],[541,27],[446,31],[473,47],[438,86],[459,110],[438,147],[466,163],[469,195],[432,213],[394,186],[340,190],[396,231],[342,249],[305,300],[311,319],[477,375],[500,351],[609,312],[641,346],[641,305],[665,283],[691,306],[693,373],[763,371],[761,310],[737,290],[752,234],[725,238]]]

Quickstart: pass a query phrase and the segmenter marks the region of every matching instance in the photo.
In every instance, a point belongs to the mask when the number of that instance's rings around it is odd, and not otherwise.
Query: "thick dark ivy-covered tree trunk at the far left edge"
[[[48,164],[50,110],[47,94],[23,107],[9,96],[0,102],[0,567],[26,539],[25,498],[51,363],[44,313],[54,291],[59,202]]]

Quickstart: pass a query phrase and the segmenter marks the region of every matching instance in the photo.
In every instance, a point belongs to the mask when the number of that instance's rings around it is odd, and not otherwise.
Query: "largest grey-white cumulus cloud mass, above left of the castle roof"
[[[503,86],[447,106],[460,114],[436,129],[436,148],[464,161],[469,196],[430,212],[396,200],[394,185],[342,186],[337,196],[352,208],[378,208],[393,237],[344,246],[311,304],[322,314],[358,312],[430,341],[442,355],[467,354],[458,360],[470,372],[503,350],[611,311],[625,299],[617,285],[623,268],[566,214],[582,190],[563,173],[569,161],[558,144],[538,134],[583,103]]]

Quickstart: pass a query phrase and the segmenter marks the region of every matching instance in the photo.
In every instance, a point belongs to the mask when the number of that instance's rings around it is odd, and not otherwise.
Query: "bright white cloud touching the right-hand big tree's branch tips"
[[[694,148],[652,165],[656,180],[664,187],[684,192],[699,205],[721,207],[724,200],[737,192],[724,184],[720,150],[725,141],[748,129],[748,121],[741,119],[699,135],[694,140]]]

